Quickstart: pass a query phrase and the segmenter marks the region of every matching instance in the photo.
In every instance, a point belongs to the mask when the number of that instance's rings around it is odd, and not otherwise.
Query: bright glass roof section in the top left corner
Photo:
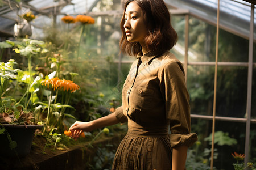
[[[14,24],[20,20],[18,15],[24,14],[28,9],[38,16],[31,22],[34,26],[33,32],[40,32],[36,29],[42,29],[43,25],[52,22],[53,14],[86,14],[98,1],[100,0],[26,0],[22,3],[11,0],[0,1],[0,35],[12,37]]]

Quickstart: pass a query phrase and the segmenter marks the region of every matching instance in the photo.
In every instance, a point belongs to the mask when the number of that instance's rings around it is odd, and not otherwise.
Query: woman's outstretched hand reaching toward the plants
[[[83,131],[92,131],[93,127],[91,122],[76,121],[73,125],[70,126],[69,130],[71,131],[72,138],[76,140],[80,137],[80,134]]]

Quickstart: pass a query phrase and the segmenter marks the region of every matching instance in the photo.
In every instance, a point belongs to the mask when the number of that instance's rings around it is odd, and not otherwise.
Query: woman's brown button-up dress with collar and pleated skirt
[[[190,133],[184,69],[170,52],[137,58],[123,85],[122,107],[115,112],[120,122],[128,121],[128,132],[112,169],[171,169],[172,148],[197,141]]]

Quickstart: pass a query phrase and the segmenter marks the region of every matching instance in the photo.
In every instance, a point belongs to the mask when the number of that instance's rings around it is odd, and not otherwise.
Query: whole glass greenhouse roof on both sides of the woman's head
[[[0,37],[13,36],[13,27],[28,8],[38,16],[31,24],[35,29],[52,22],[53,14],[86,14],[93,11],[98,2],[113,3],[117,0],[14,0],[0,1]],[[217,21],[217,0],[164,0],[170,8],[187,9],[189,14],[211,24]],[[119,1],[121,2],[121,1]],[[249,39],[250,3],[242,0],[220,1],[220,28]],[[101,9],[104,11],[104,9]],[[98,11],[97,11],[98,12]],[[256,18],[256,14],[255,14]],[[256,23],[256,19],[255,19]],[[255,35],[256,37],[256,35]],[[256,39],[256,38],[255,38]]]

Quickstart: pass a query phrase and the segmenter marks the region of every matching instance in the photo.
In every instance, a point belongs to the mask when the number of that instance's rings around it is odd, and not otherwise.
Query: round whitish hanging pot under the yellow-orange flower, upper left
[[[14,35],[15,37],[24,38],[26,36],[30,37],[32,35],[32,25],[27,20],[23,19],[22,22],[16,23],[14,25]]]

